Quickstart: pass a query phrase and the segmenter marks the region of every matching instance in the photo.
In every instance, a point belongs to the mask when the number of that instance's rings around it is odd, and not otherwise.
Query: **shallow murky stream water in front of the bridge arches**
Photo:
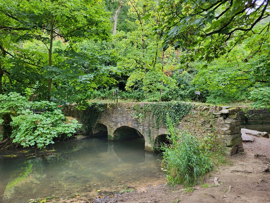
[[[107,141],[68,140],[46,150],[0,151],[0,202],[29,202],[47,196],[96,195],[118,191],[145,180],[159,180],[157,153],[144,150],[144,138]],[[3,155],[13,154],[11,158]]]

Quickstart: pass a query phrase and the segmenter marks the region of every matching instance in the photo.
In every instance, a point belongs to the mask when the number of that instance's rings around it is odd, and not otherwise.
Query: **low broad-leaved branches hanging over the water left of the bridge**
[[[12,115],[11,138],[23,147],[36,145],[43,148],[54,143],[55,137],[70,137],[81,126],[76,120],[67,121],[61,110],[48,101],[27,102],[25,97],[15,92],[0,95],[0,100],[0,116]],[[31,109],[45,112],[36,114]]]

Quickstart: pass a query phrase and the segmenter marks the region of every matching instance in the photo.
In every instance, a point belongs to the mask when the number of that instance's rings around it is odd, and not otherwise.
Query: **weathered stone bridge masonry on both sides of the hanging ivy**
[[[103,111],[97,116],[95,124],[88,129],[88,134],[99,136],[107,134],[108,140],[117,141],[143,136],[145,150],[153,151],[160,143],[165,141],[167,130],[162,124],[155,127],[155,117],[149,116],[147,121],[135,118],[134,106],[152,102],[129,102],[104,104]],[[153,104],[153,103],[152,103]],[[230,106],[205,106],[203,104],[187,103],[192,106],[190,113],[182,118],[178,125],[180,130],[187,130],[198,138],[213,135],[220,142],[221,150],[227,156],[238,151],[244,151],[241,138],[239,109]],[[67,115],[77,117],[74,113]],[[151,114],[151,113],[150,113]],[[80,113],[82,115],[82,112]],[[90,117],[95,115],[88,115]],[[87,121],[84,121],[87,122]]]

